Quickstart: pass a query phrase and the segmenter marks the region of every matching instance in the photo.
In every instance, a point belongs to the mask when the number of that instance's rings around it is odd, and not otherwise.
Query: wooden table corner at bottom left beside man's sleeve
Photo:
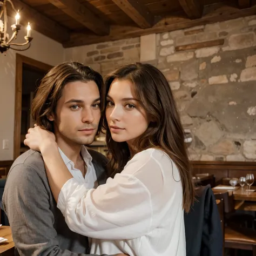
[[[0,227],[0,237],[8,239],[5,242],[0,242],[0,256],[14,256],[14,241],[10,226]]]

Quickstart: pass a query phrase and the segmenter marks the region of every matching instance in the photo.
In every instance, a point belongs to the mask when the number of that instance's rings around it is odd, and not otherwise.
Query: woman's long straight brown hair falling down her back
[[[150,64],[135,63],[116,69],[105,79],[103,99],[106,99],[114,79],[130,80],[140,104],[150,120],[147,130],[136,140],[137,152],[156,147],[166,152],[178,167],[183,186],[183,208],[186,212],[194,201],[194,187],[190,161],[184,142],[184,131],[173,93],[163,73]],[[106,106],[106,103],[104,103]],[[113,174],[121,172],[130,158],[126,142],[114,142],[103,115],[106,142],[112,155],[110,167]],[[171,170],[170,170],[171,171]]]

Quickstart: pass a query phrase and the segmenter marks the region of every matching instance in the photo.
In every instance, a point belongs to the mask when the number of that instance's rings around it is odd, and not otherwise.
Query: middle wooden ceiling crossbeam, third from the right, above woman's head
[[[140,28],[151,28],[154,24],[154,16],[147,7],[137,0],[112,0],[125,12]]]

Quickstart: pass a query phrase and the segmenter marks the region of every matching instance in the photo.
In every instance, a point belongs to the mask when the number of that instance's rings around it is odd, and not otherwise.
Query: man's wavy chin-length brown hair
[[[102,76],[89,66],[78,62],[64,62],[46,73],[32,102],[32,118],[37,125],[48,131],[53,130],[52,122],[48,119],[48,116],[55,113],[56,105],[62,96],[64,86],[70,82],[77,81],[94,81],[99,88],[99,92],[102,91]],[[98,133],[100,130],[101,122]]]

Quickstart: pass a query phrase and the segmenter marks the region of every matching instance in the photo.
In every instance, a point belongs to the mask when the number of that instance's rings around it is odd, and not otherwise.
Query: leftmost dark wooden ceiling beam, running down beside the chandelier
[[[12,0],[16,10],[19,10],[21,15],[21,24],[26,26],[28,22],[31,24],[32,30],[36,30],[43,35],[50,37],[51,39],[63,43],[68,41],[69,30],[65,29],[63,26],[59,25],[57,22],[52,21],[52,19],[42,15],[40,12],[32,9],[29,5],[23,3],[19,0]],[[11,8],[8,8],[8,15],[10,17],[15,17],[14,11]]]

